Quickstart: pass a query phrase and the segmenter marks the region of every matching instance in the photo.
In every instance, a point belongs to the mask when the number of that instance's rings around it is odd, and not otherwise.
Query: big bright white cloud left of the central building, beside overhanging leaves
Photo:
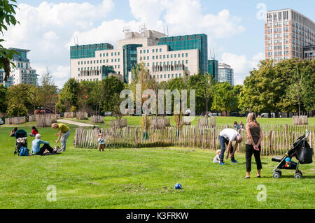
[[[69,48],[65,48],[65,45],[70,38],[73,39],[73,32],[91,29],[94,22],[106,19],[112,10],[111,0],[99,4],[43,1],[38,6],[29,6],[20,3],[16,14],[20,24],[10,27],[4,34],[5,45],[31,50],[31,66],[38,72],[46,66],[50,67],[52,73],[59,73],[61,67],[69,70],[69,66],[65,66],[69,64]],[[59,76],[55,76],[56,83],[59,82],[57,78]]]

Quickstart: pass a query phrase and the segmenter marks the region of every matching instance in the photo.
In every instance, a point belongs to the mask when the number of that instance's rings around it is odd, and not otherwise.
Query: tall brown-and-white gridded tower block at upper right
[[[265,57],[280,62],[303,58],[303,48],[315,44],[315,23],[292,9],[265,13]]]

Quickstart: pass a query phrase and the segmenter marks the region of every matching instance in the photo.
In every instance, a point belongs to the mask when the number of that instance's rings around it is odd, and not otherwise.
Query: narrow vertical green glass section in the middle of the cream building
[[[124,57],[124,82],[128,83],[128,73],[132,71],[134,64],[137,64],[137,48],[140,44],[128,44],[123,46]]]

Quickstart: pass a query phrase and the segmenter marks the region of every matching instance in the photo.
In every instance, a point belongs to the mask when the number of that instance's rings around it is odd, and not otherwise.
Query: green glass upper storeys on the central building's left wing
[[[74,45],[70,47],[70,58],[81,59],[95,57],[95,51],[97,50],[113,50],[113,45],[109,43]]]

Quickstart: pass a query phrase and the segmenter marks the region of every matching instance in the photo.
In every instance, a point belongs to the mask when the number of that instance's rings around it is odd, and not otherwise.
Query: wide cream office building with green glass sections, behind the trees
[[[78,54],[78,50],[87,50]],[[123,75],[124,82],[132,80],[132,67],[143,62],[158,82],[170,78],[208,72],[207,35],[166,37],[158,31],[141,28],[127,29],[125,39],[117,49],[109,43],[71,46],[71,78],[102,80],[111,73]]]

